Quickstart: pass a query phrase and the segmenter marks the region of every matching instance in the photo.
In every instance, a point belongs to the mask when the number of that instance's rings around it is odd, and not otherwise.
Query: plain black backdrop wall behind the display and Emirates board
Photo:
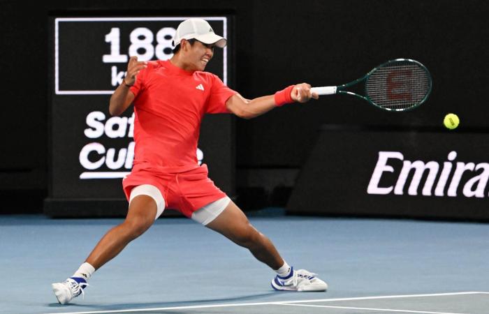
[[[487,131],[486,1],[1,0],[0,8],[2,213],[41,212],[48,195],[48,43],[54,15],[231,15],[234,88],[247,98],[298,82],[342,84],[397,57],[430,69],[432,95],[413,112],[381,112],[356,98],[330,96],[236,121],[236,182],[245,209],[284,204],[322,124],[441,129],[444,115],[455,112],[458,132],[468,139]]]

